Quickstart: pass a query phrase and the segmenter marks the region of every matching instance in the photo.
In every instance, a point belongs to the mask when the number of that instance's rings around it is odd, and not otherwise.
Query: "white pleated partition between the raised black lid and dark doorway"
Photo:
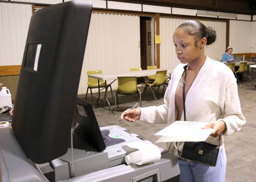
[[[78,94],[86,92],[89,70],[111,73],[140,67],[139,41],[139,16],[92,13]],[[116,87],[117,81],[112,84]]]

